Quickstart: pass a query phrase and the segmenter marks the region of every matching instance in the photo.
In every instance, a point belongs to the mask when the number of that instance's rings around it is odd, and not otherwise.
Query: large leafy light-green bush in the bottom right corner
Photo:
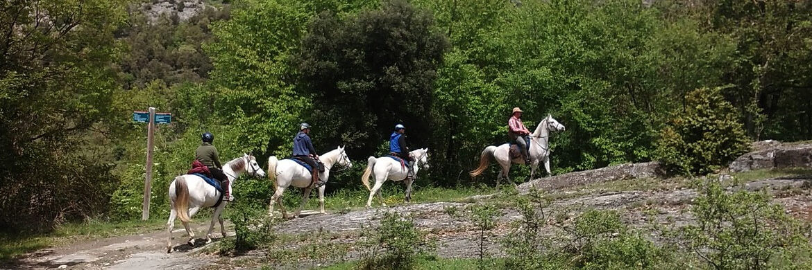
[[[766,192],[728,192],[702,182],[691,212],[697,224],[676,229],[680,245],[715,269],[812,267],[809,229],[772,204]]]

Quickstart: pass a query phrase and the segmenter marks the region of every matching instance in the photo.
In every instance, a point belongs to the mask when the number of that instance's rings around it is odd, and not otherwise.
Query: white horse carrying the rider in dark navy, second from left
[[[324,179],[325,182],[327,182],[327,179],[330,178],[330,169],[333,169],[333,165],[338,164],[345,168],[352,167],[352,162],[350,162],[350,158],[347,156],[347,152],[344,152],[343,147],[335,148],[333,151],[326,152],[326,154],[318,156],[318,159],[324,164],[324,173],[321,173],[319,177]],[[302,208],[304,208],[304,204],[307,204],[307,200],[310,197],[310,191],[313,190],[313,187],[311,187],[313,176],[310,174],[310,172],[307,169],[304,169],[304,166],[296,163],[296,161],[287,159],[279,161],[276,159],[276,156],[270,156],[268,158],[268,178],[270,178],[271,181],[276,182],[276,192],[270,197],[268,216],[274,215],[274,203],[276,203],[279,204],[279,210],[282,211],[282,216],[287,218],[287,212],[285,211],[284,205],[282,205],[282,195],[288,186],[293,185],[304,188],[302,204],[293,214],[293,217],[299,217],[299,213],[302,211]],[[318,203],[320,212],[322,212],[322,214],[325,213],[325,186],[318,187]]]

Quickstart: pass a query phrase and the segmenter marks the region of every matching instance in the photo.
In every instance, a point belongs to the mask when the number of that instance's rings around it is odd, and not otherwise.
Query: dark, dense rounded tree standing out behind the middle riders
[[[408,2],[384,2],[348,19],[317,15],[295,62],[302,89],[313,96],[321,144],[348,144],[362,156],[398,122],[408,126],[412,145],[425,144],[446,48],[430,13]]]

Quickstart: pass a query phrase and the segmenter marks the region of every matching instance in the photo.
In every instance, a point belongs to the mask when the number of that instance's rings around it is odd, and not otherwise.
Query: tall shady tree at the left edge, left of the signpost
[[[117,88],[110,63],[123,6],[0,3],[0,222],[11,225],[2,229],[47,229],[106,209],[114,179],[97,161],[104,138],[91,131]]]

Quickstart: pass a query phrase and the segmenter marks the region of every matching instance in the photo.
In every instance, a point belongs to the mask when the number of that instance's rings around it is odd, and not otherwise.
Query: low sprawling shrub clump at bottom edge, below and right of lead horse
[[[522,219],[504,242],[506,269],[653,269],[670,258],[617,212],[590,210],[563,225],[567,213],[545,212],[549,202],[538,193],[517,201]],[[553,237],[551,227],[559,229]]]

